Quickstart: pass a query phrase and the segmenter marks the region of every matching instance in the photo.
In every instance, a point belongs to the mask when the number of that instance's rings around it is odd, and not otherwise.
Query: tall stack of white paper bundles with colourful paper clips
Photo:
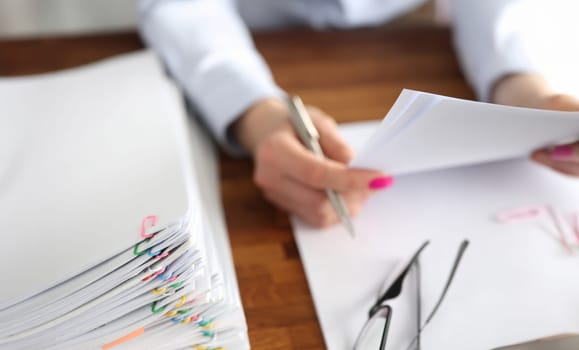
[[[201,202],[215,174],[157,59],[3,79],[0,99],[0,349],[248,348],[223,218]]]

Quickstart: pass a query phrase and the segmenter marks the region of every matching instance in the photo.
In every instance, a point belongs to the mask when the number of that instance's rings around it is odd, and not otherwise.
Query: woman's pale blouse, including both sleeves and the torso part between
[[[551,74],[577,27],[575,0],[437,0],[439,18],[452,13],[455,46],[468,81],[482,100],[505,74]],[[217,140],[240,148],[228,127],[256,101],[284,93],[256,51],[249,29],[304,25],[377,25],[423,0],[141,0],[141,33],[164,59]],[[571,8],[573,7],[573,8]],[[546,17],[549,20],[546,20]],[[543,40],[545,39],[545,40]],[[544,46],[548,45],[549,55]],[[538,53],[543,53],[538,55]],[[578,62],[574,56],[573,62]],[[569,61],[569,62],[567,62]],[[564,64],[571,65],[571,59]],[[575,63],[573,63],[575,65]],[[574,67],[569,67],[576,70]],[[579,80],[575,80],[579,81]],[[577,85],[577,84],[575,84]]]

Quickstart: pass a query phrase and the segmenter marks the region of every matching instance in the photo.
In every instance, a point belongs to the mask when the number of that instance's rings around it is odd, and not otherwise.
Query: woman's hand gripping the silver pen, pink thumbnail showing
[[[240,143],[253,154],[253,179],[265,197],[307,223],[325,227],[339,221],[326,188],[341,193],[350,214],[356,215],[372,192],[391,186],[393,180],[377,171],[348,168],[353,152],[339,136],[334,120],[317,108],[308,111],[325,160],[300,142],[282,100],[261,100],[235,128]]]

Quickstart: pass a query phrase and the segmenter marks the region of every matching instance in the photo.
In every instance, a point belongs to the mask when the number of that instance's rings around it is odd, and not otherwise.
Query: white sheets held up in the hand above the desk
[[[500,106],[404,90],[352,166],[392,175],[525,157],[579,139],[579,112]]]

